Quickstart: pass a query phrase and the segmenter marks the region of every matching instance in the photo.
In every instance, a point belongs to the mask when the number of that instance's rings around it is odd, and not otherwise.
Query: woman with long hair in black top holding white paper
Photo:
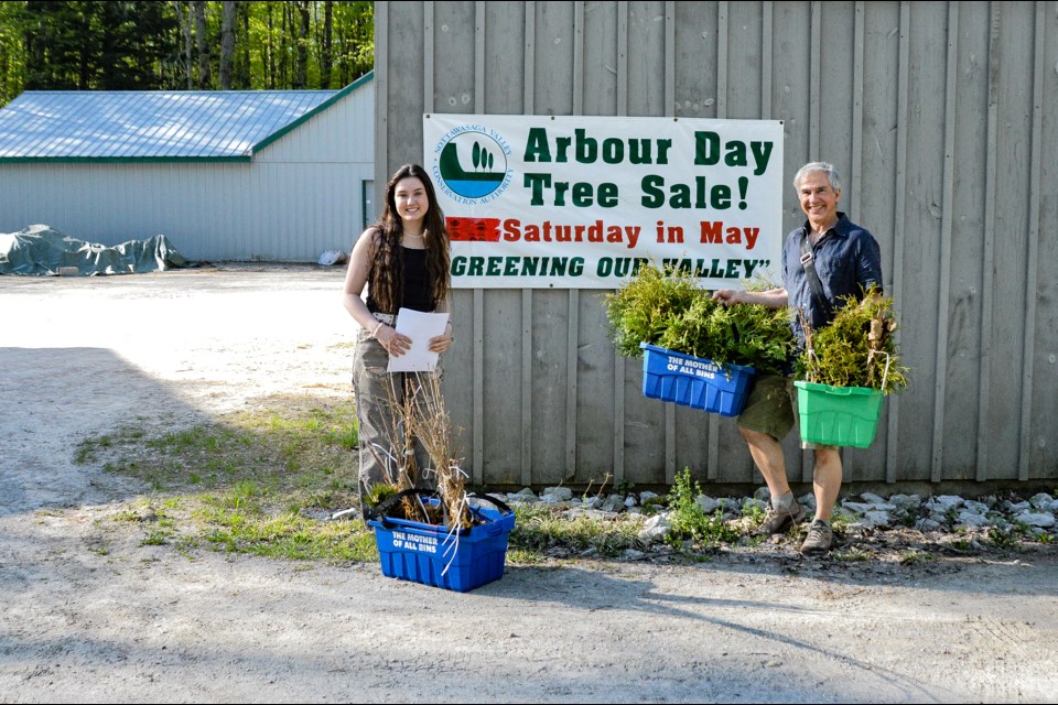
[[[401,420],[406,397],[423,402],[436,384],[423,383],[422,376],[436,372],[389,373],[386,368],[390,356],[403,355],[411,345],[395,328],[398,311],[447,312],[450,284],[449,236],[433,183],[422,166],[406,164],[386,185],[382,216],[357,239],[345,274],[345,308],[360,324],[353,388],[360,424],[361,508],[373,485],[397,482],[406,458],[414,457],[415,467],[408,467],[412,482],[424,484],[415,468],[430,467],[430,459],[418,442],[413,456],[404,453]],[[429,349],[445,352],[451,346],[449,321],[444,335],[430,339]]]

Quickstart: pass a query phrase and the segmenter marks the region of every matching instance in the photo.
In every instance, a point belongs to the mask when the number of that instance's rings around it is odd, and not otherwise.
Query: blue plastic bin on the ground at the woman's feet
[[[382,575],[457,593],[501,578],[515,514],[490,507],[473,511],[484,523],[452,534],[446,527],[406,519],[369,520]]]

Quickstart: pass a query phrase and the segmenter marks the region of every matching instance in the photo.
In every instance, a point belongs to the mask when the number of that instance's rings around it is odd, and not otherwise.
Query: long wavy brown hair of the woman
[[[374,257],[368,274],[371,299],[385,313],[397,313],[403,299],[404,259],[400,243],[404,236],[403,221],[397,214],[397,184],[402,178],[418,178],[427,192],[429,207],[423,221],[423,245],[427,249],[427,278],[433,293],[436,307],[449,295],[451,274],[449,272],[449,232],[444,229],[444,214],[438,205],[430,175],[419,164],[404,164],[386,184],[386,207],[375,224]]]

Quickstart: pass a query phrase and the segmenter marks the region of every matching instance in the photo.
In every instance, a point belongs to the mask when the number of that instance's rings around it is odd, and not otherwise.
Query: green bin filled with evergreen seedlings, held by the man
[[[893,300],[868,292],[845,297],[825,328],[813,332],[801,316],[805,351],[794,384],[801,440],[865,448],[874,443],[882,400],[907,387],[900,365]]]

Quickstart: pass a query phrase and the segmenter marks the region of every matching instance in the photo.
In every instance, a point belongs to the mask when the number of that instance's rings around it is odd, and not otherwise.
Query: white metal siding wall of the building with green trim
[[[0,232],[36,223],[117,245],[163,234],[191,260],[314,262],[349,251],[374,178],[374,85],[252,162],[0,163]]]

